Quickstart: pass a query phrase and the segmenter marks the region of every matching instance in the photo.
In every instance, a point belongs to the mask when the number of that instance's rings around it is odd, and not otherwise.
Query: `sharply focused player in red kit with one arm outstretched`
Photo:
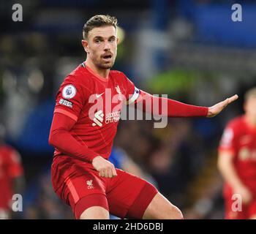
[[[152,114],[213,117],[237,96],[213,107],[197,107],[136,88],[124,73],[110,70],[118,37],[117,20],[109,15],[86,22],[82,45],[86,61],[67,75],[56,95],[49,136],[56,148],[53,189],[72,207],[76,219],[109,219],[109,213],[129,219],[182,219],[181,211],[153,185],[108,161],[121,107],[134,104]]]

